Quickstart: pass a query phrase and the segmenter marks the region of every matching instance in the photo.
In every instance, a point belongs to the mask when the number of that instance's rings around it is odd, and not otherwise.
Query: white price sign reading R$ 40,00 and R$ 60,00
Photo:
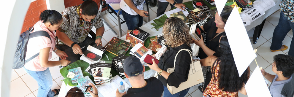
[[[254,20],[260,18],[262,15],[264,15],[264,11],[260,7],[252,7],[252,9],[247,10],[245,12],[245,15],[250,20],[250,22],[253,22]]]

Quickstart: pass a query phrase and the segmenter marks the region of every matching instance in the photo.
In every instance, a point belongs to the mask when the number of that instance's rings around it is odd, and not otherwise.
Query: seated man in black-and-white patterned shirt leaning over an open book
[[[61,14],[63,21],[56,31],[58,47],[68,55],[67,59],[71,63],[80,59],[89,44],[102,46],[104,25],[96,2],[84,1],[78,6],[64,9]],[[93,37],[95,41],[88,36],[93,26],[96,27],[96,38]]]

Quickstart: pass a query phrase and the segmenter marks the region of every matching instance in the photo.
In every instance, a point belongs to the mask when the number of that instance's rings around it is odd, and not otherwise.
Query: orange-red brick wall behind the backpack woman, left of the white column
[[[21,32],[25,32],[30,27],[34,26],[35,23],[39,21],[39,16],[41,12],[47,9],[45,0],[36,0],[31,2],[28,12],[26,13],[25,20],[23,22],[23,28]]]

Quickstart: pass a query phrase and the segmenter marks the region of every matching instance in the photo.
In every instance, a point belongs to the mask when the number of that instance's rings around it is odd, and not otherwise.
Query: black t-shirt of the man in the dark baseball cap
[[[129,88],[123,97],[161,97],[163,93],[163,85],[155,78],[145,79],[147,85],[142,88]]]

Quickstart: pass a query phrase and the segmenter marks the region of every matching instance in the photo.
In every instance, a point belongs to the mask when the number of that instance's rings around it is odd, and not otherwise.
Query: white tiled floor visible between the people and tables
[[[145,7],[146,8],[146,7]],[[169,10],[170,8],[167,8],[166,10]],[[144,9],[146,10],[146,9]],[[157,7],[152,7],[149,9],[150,11],[150,20],[153,20],[156,18],[156,10]],[[274,72],[271,70],[271,63],[273,63],[273,56],[277,54],[287,54],[288,50],[286,51],[278,51],[278,52],[271,52],[269,47],[271,46],[271,38],[274,31],[275,26],[278,24],[279,20],[279,11],[272,14],[270,17],[266,19],[265,25],[263,27],[263,30],[261,32],[261,35],[259,39],[257,40],[257,44],[252,44],[252,47],[254,49],[258,49],[257,51],[257,57],[256,61],[259,66],[262,66],[266,72],[270,74],[274,74]],[[101,12],[102,17],[104,20],[109,24],[109,26],[118,33],[118,26],[117,26],[117,20],[111,16],[107,11]],[[114,14],[113,14],[114,15]],[[115,16],[115,15],[114,15]],[[123,18],[121,16],[121,18]],[[147,22],[147,18],[144,18],[144,20]],[[122,33],[123,35],[126,34],[127,26],[125,23],[122,25]],[[107,25],[104,23],[105,33],[103,35],[102,44],[105,46],[107,42],[113,37],[116,36],[112,30],[107,27]],[[252,28],[250,31],[247,32],[250,38],[250,41],[252,43],[253,39],[253,33],[254,28]],[[285,40],[283,41],[283,44],[290,46],[290,41],[293,37],[292,30],[287,34]],[[53,58],[51,59],[53,61],[59,60],[57,58],[56,54],[53,54]],[[253,60],[250,64],[250,72],[252,73],[252,70],[254,70],[256,67],[256,63]],[[52,78],[53,78],[53,86],[52,89],[60,88],[63,77],[59,73],[60,68],[58,66],[49,68]],[[10,96],[11,97],[35,97],[38,92],[38,85],[36,81],[30,77],[23,69],[15,69],[12,70],[12,77],[11,77],[11,84],[10,84]],[[269,82],[269,85],[271,83]],[[17,91],[17,93],[16,93]],[[190,88],[188,91],[187,97],[201,97],[202,93],[198,90],[198,85],[195,85]],[[247,97],[239,93],[240,97]]]

